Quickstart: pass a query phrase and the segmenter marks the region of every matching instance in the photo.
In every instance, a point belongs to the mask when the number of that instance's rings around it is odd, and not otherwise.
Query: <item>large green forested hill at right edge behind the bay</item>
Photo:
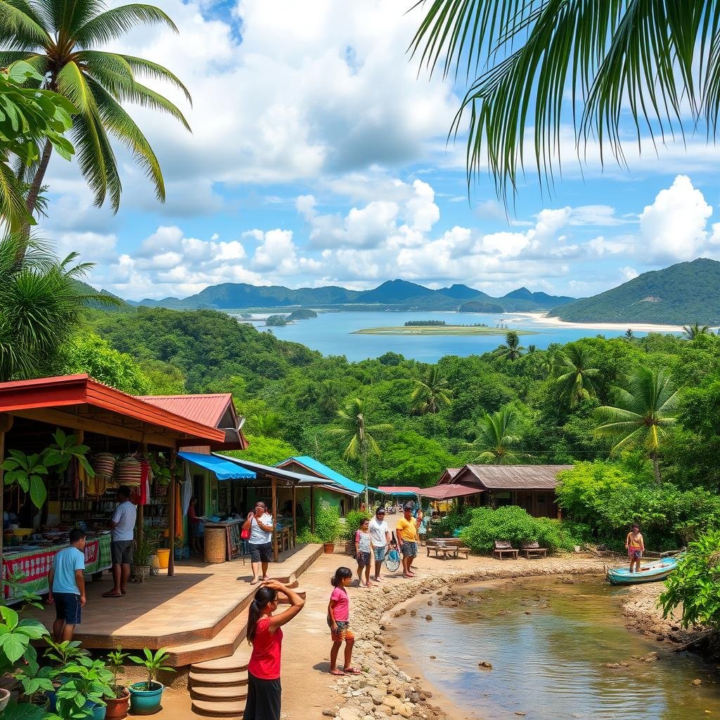
[[[576,323],[720,324],[720,262],[698,258],[593,297],[556,307],[550,315]]]

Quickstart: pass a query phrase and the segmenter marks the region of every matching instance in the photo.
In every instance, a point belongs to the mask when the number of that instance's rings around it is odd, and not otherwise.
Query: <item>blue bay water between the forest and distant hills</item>
[[[521,344],[532,343],[544,349],[551,343],[569,343],[573,340],[603,335],[614,338],[624,330],[598,330],[597,328],[557,328],[543,323],[542,319],[526,315],[476,315],[462,312],[322,312],[318,318],[300,320],[284,328],[272,328],[281,340],[302,343],[323,355],[344,355],[348,360],[377,358],[388,351],[423,362],[436,362],[444,355],[467,356],[494,350],[505,342],[499,336],[379,336],[352,335],[354,330],[405,325],[408,320],[445,320],[449,325],[485,323],[490,328],[502,322],[510,330],[534,330],[538,335],[521,337]],[[259,330],[264,325],[258,324]],[[647,333],[635,333],[640,337]]]

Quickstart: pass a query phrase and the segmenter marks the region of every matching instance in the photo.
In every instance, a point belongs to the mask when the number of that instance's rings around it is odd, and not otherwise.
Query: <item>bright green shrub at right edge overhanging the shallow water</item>
[[[663,617],[682,606],[683,627],[702,623],[720,627],[720,530],[713,530],[690,543],[678,567],[665,580],[660,595]]]

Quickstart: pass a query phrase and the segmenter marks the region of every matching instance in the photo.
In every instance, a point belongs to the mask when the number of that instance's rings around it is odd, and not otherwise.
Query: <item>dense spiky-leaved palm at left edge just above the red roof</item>
[[[86,292],[78,281],[91,265],[73,265],[76,258],[72,253],[58,261],[24,234],[0,239],[0,382],[53,370],[86,310],[97,303],[115,304]]]

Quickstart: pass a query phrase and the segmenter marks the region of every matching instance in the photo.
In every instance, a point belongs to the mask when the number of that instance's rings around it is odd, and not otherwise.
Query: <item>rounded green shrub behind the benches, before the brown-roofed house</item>
[[[472,510],[470,523],[461,531],[460,538],[475,552],[490,552],[495,540],[509,540],[516,547],[537,541],[550,552],[572,549],[575,544],[559,521],[534,518],[516,505]]]

